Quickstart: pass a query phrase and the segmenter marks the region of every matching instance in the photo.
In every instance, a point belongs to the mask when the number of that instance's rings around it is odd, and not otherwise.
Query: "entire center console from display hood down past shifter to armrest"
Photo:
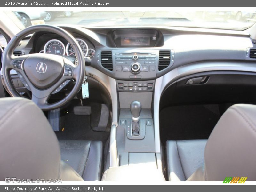
[[[155,138],[152,102],[157,73],[174,63],[174,52],[155,48],[157,31],[140,32],[115,31],[115,47],[98,53],[99,64],[116,79],[119,106],[118,125],[111,128],[111,167],[103,176],[106,180],[124,179],[126,173],[164,180],[162,155],[156,153],[159,138]]]

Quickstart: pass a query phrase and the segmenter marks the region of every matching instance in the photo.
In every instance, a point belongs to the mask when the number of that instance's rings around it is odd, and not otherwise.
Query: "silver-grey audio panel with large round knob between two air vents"
[[[158,52],[154,49],[112,50],[113,71],[116,79],[143,80],[156,78]]]

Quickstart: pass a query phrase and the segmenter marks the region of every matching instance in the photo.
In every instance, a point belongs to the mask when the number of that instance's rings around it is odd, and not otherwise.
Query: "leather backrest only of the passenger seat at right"
[[[204,151],[204,176],[208,181],[226,177],[256,180],[256,106],[228,108],[213,129]]]

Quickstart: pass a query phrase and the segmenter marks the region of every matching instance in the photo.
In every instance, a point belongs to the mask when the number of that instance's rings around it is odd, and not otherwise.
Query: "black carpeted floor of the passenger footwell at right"
[[[208,139],[219,119],[219,105],[164,108],[159,115],[161,141]]]

